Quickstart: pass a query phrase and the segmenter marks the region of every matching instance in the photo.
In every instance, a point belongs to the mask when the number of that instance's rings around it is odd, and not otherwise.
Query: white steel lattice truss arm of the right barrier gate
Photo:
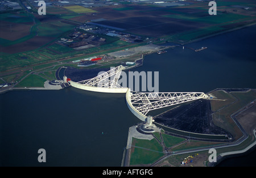
[[[203,92],[157,92],[144,93],[132,91],[131,103],[138,112],[146,114],[154,109],[164,108],[192,100],[207,98]]]

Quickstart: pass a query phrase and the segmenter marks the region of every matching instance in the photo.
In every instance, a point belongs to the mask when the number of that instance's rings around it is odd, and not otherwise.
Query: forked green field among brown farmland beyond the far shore
[[[176,14],[172,15],[163,15],[170,19],[180,19],[180,20],[187,20],[191,23],[202,24],[201,28],[191,29],[189,31],[177,33],[174,35],[170,35],[167,37],[170,41],[184,41],[187,43],[191,40],[199,39],[201,37],[214,35],[215,33],[224,32],[230,28],[239,27],[242,22],[246,20],[254,19],[250,15],[241,15],[235,14],[232,12],[224,13],[218,12],[217,15],[207,15],[205,11],[196,11],[195,9],[191,10],[194,11],[191,14],[188,14],[186,11],[175,11],[172,10],[171,12],[175,12]],[[232,26],[231,26],[232,25]]]

